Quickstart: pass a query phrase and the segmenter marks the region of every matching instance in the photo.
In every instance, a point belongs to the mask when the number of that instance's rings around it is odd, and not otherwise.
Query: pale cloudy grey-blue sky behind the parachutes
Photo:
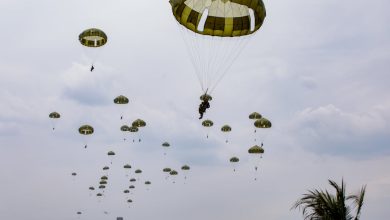
[[[367,185],[361,218],[388,219],[390,2],[264,4],[262,28],[212,94],[206,138],[202,90],[168,1],[2,0],[0,219],[298,220],[291,206],[307,190],[331,191],[328,179],[344,179],[347,193]],[[78,42],[91,27],[108,35],[93,72]],[[118,95],[129,104],[115,106]],[[61,113],[55,132],[52,111]],[[258,144],[254,111],[272,121],[258,172],[247,153]],[[142,141],[123,141],[120,126],[137,118],[147,123]],[[83,124],[95,128],[87,149]],[[143,170],[130,207],[125,163]],[[105,165],[99,202],[88,187]],[[166,166],[179,170],[175,184]]]

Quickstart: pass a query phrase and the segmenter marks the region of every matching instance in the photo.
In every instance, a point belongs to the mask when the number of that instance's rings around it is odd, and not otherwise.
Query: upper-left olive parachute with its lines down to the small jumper
[[[85,53],[91,61],[92,72],[94,69],[93,64],[100,53],[100,47],[107,43],[107,35],[100,29],[90,28],[79,35],[79,41],[85,48]]]

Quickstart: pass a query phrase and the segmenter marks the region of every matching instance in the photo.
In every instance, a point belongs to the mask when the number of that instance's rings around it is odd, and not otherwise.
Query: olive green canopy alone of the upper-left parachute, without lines
[[[102,30],[91,28],[79,35],[79,41],[86,47],[101,47],[107,43],[107,35]]]

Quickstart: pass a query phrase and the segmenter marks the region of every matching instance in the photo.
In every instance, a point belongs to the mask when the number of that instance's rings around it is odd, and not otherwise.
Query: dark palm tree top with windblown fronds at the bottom
[[[336,190],[336,195],[327,190],[309,190],[291,209],[302,209],[305,220],[359,220],[366,186],[358,194],[347,196],[344,180],[341,181],[341,187],[332,180],[329,180],[329,184]],[[352,214],[354,209],[355,216]]]

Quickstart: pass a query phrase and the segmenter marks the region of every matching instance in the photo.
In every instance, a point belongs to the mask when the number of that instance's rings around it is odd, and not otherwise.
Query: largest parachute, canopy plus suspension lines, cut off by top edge
[[[203,93],[211,94],[266,16],[262,0],[170,0]]]

